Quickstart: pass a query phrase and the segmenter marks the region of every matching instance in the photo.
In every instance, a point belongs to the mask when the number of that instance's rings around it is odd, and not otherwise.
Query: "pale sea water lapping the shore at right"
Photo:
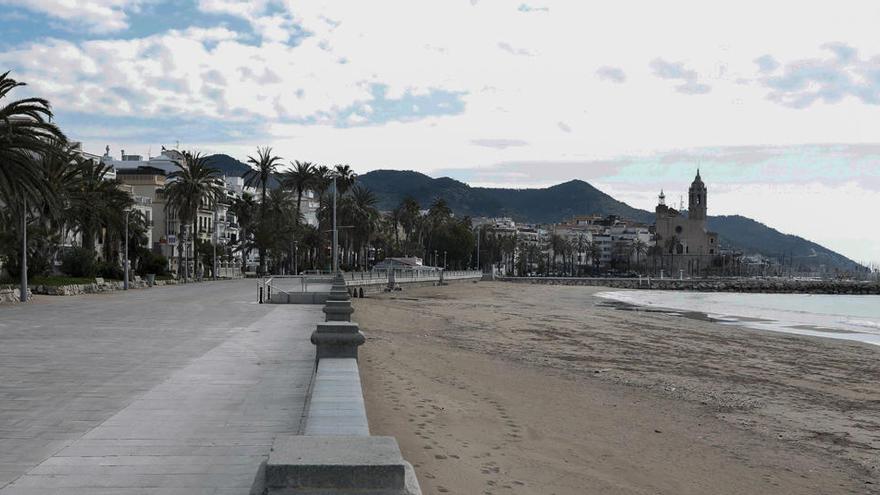
[[[880,296],[631,290],[599,297],[705,313],[721,323],[880,345]]]

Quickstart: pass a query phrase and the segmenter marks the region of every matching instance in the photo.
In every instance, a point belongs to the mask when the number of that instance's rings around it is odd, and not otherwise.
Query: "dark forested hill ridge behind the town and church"
[[[357,182],[379,198],[379,208],[391,210],[406,196],[427,208],[443,198],[457,215],[511,217],[528,223],[560,222],[575,215],[619,215],[653,224],[654,213],[633,208],[581,180],[540,189],[471,187],[448,177],[432,178],[413,171],[376,170],[358,176]],[[710,216],[709,230],[717,232],[722,245],[746,254],[761,254],[795,265],[853,270],[858,264],[842,254],[798,236],[783,234],[760,222],[739,215]]]

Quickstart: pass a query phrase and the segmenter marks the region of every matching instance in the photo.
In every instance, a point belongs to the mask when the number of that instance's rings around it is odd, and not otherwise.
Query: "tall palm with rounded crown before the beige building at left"
[[[220,171],[209,166],[207,157],[200,153],[185,151],[183,163],[176,162],[178,169],[168,175],[171,180],[163,193],[167,204],[177,212],[180,219],[180,233],[183,238],[183,226],[187,222],[192,225],[192,250],[193,260],[198,260],[195,238],[198,234],[196,222],[199,218],[199,208],[206,205],[213,209],[214,203],[223,196],[223,186],[220,184]],[[195,272],[194,261],[193,270]],[[186,271],[184,272],[184,277]]]

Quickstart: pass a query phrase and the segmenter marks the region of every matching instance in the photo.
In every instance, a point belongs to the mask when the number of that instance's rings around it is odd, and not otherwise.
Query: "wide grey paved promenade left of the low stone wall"
[[[0,494],[246,494],[299,427],[319,306],[252,280],[0,307]]]

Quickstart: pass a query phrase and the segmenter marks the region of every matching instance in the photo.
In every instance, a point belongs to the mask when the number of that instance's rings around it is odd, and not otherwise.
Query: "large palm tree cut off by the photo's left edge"
[[[0,102],[9,93],[24,86],[0,75]],[[36,203],[47,193],[33,167],[35,155],[50,150],[50,143],[66,141],[61,130],[52,123],[52,110],[43,98],[13,100],[0,106],[0,201],[15,209],[21,218],[21,300],[27,300],[27,214],[28,201]],[[51,198],[49,198],[51,201]]]

